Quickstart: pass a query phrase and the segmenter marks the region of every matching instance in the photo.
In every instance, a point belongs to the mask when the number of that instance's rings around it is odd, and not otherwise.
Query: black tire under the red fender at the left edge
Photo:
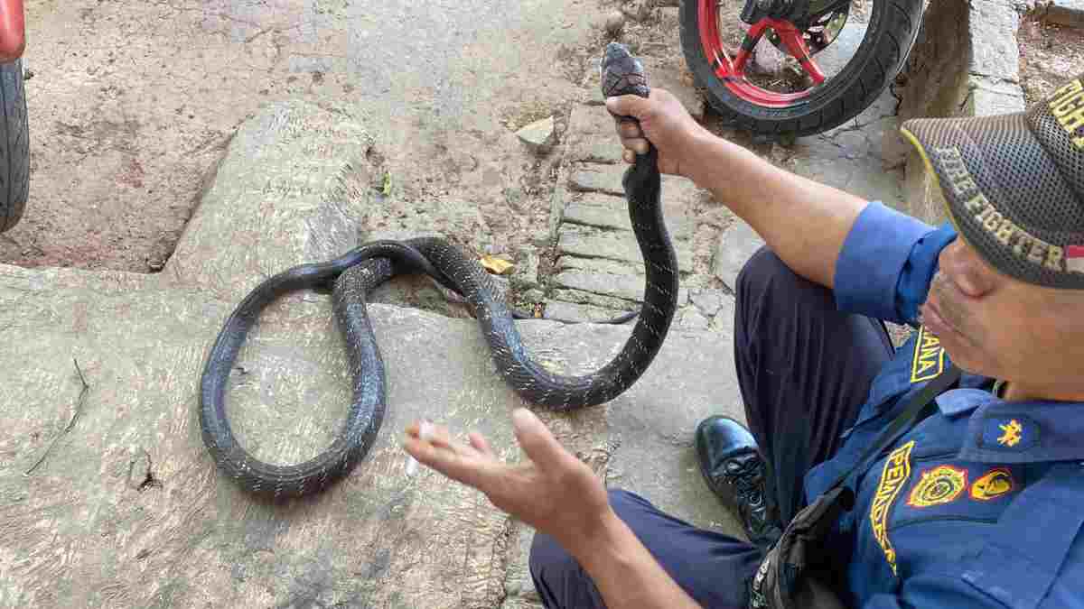
[[[0,233],[23,218],[30,182],[30,139],[23,61],[0,64]]]

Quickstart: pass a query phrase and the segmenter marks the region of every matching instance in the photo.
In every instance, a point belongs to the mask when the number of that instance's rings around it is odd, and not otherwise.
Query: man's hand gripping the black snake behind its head
[[[624,146],[625,163],[633,164],[635,155],[646,154],[650,140],[659,151],[660,172],[691,178],[688,156],[695,148],[694,142],[710,133],[693,119],[678,98],[664,89],[651,89],[647,99],[638,95],[609,98],[606,109],[617,115],[617,134]],[[640,127],[618,118],[621,116],[640,120]]]

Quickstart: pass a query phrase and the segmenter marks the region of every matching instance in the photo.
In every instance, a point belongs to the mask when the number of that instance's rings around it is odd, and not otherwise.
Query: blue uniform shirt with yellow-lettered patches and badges
[[[868,205],[839,256],[837,304],[915,327],[954,238],[951,225]],[[915,327],[839,452],[806,475],[806,498],[852,469],[906,398],[949,365],[937,337]],[[854,508],[829,539],[848,566],[849,606],[1084,607],[1084,404],[1005,402],[993,386],[965,374],[934,414],[851,476]]]

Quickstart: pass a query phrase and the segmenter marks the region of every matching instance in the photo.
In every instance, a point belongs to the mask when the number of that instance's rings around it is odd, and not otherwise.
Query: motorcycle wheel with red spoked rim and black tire
[[[733,44],[732,40],[727,44],[720,33],[734,31],[741,24],[736,17],[724,15],[736,15],[722,9],[725,1],[682,0],[682,51],[711,106],[734,127],[767,137],[826,131],[869,107],[903,67],[918,35],[922,13],[922,0],[873,0],[865,36],[853,56],[834,76],[826,78],[820,74],[823,81],[816,82],[816,73],[821,72],[815,65],[817,50],[811,52],[813,39],[808,29],[803,31],[801,25],[791,22],[761,20],[743,25],[748,28],[743,43]],[[723,20],[728,23],[721,23]],[[788,28],[792,35],[786,40],[784,31]],[[750,78],[747,67],[752,62],[741,49],[756,52],[758,43],[773,42],[769,38],[797,60],[812,86],[773,90]],[[803,54],[812,60],[812,65],[802,61]]]

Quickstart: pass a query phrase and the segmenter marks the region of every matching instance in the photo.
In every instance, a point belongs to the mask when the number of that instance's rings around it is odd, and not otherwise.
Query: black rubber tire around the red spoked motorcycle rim
[[[811,135],[853,118],[900,73],[918,36],[922,0],[874,0],[865,38],[838,75],[786,107],[765,107],[735,94],[717,76],[700,40],[699,5],[682,0],[681,43],[685,62],[708,102],[732,126],[754,135]]]

